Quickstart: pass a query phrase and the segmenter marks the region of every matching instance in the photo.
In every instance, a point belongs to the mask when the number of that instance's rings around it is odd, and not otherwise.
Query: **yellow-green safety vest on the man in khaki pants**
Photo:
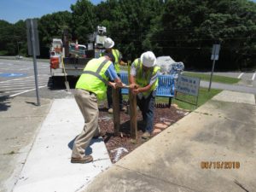
[[[90,60],[84,67],[83,74],[80,76],[76,88],[94,92],[98,100],[105,99],[108,84],[105,72],[111,63],[104,56]]]

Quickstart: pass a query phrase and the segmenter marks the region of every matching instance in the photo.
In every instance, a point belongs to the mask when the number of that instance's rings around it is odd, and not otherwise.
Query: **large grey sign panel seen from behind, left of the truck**
[[[35,55],[40,55],[38,40],[38,21],[36,19],[26,20],[26,38],[28,55],[33,55],[32,46],[35,48]]]

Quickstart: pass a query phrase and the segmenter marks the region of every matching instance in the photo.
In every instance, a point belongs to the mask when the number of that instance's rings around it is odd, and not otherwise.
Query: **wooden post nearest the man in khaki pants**
[[[119,136],[120,129],[120,108],[119,108],[119,89],[112,88],[112,98],[113,98],[113,128],[114,135]]]

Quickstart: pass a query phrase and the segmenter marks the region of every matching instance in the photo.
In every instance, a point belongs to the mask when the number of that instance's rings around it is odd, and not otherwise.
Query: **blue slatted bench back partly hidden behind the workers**
[[[120,78],[123,83],[128,84],[128,74],[120,73]],[[158,76],[158,87],[156,90],[156,96],[173,97],[175,90],[175,79],[173,75],[159,75]],[[128,89],[122,89],[121,93],[127,95]]]

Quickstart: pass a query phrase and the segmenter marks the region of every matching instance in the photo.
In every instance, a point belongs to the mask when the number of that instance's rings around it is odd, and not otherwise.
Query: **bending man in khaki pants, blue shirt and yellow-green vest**
[[[90,60],[76,84],[74,97],[84,116],[84,129],[73,143],[72,163],[88,163],[93,160],[84,151],[91,138],[100,133],[98,101],[106,98],[107,84],[114,89],[124,85],[114,70],[114,60],[111,53]]]

